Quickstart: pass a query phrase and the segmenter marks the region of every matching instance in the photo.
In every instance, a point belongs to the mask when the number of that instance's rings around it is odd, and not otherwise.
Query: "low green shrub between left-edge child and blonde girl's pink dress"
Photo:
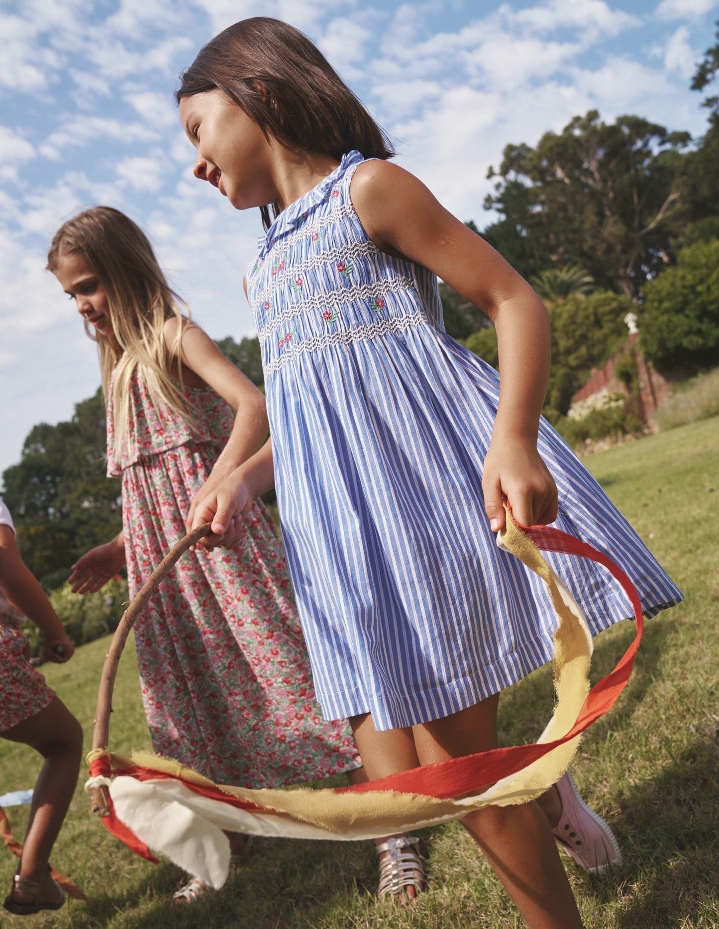
[[[68,638],[74,646],[85,645],[117,629],[129,596],[127,582],[114,578],[97,594],[73,594],[70,584],[63,584],[49,595]],[[42,654],[43,636],[32,622],[25,622],[22,632],[30,641],[33,655]]]

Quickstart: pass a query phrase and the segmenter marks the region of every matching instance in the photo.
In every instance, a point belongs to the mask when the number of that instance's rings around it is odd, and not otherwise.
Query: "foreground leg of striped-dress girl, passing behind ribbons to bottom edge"
[[[422,765],[497,747],[499,696],[413,726]],[[536,803],[488,806],[462,820],[531,929],[581,929],[582,918],[546,817]]]

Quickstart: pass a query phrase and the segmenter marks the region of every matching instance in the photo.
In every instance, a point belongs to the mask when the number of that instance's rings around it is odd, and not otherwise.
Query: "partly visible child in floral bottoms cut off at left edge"
[[[23,617],[44,636],[43,661],[63,664],[74,648],[43,588],[25,566],[0,499],[0,737],[30,745],[45,759],[33,791],[22,856],[5,909],[18,915],[59,909],[65,894],[50,873],[52,846],[72,800],[83,730],[30,663]]]

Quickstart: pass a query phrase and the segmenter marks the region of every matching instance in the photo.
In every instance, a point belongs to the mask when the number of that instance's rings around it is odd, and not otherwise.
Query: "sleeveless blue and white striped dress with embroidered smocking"
[[[543,582],[497,548],[481,479],[497,373],[444,332],[437,279],[379,251],[351,152],[259,242],[246,281],[262,347],[281,528],[317,697],[377,729],[455,713],[552,658]],[[647,616],[681,592],[550,425],[556,526],[618,561]],[[549,556],[593,634],[631,608],[608,572]]]

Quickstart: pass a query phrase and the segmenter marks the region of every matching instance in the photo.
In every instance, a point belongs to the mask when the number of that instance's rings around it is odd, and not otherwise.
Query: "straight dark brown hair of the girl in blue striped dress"
[[[287,149],[320,152],[337,161],[355,149],[365,158],[395,153],[320,50],[281,20],[241,20],[203,46],[182,74],[176,101],[208,90],[221,90]],[[277,216],[278,204],[271,205]],[[268,229],[268,206],[260,210]]]

